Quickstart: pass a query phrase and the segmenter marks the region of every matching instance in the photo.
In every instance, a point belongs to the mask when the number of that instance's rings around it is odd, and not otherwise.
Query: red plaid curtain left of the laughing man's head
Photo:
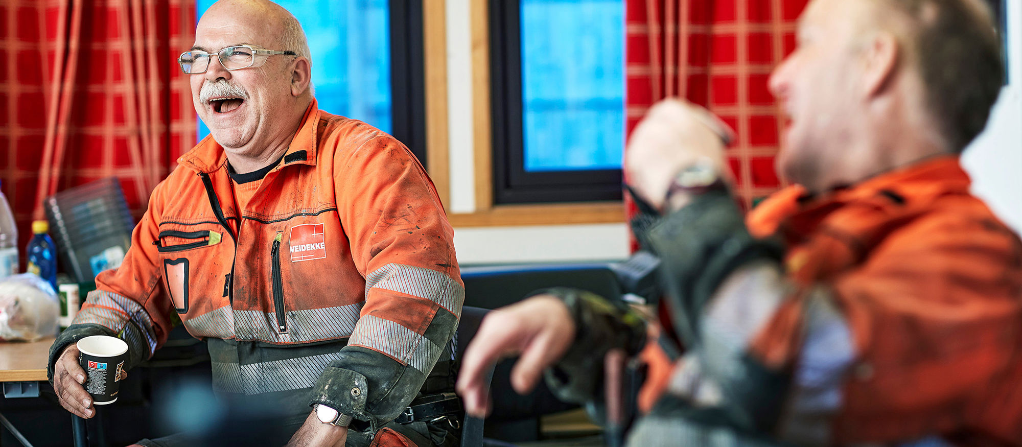
[[[193,0],[4,0],[0,179],[19,246],[42,201],[117,176],[137,216],[195,143],[188,79]]]

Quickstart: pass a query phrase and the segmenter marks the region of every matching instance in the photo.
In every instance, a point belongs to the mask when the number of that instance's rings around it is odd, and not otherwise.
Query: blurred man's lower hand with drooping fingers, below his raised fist
[[[465,350],[458,393],[465,411],[483,416],[490,411],[490,368],[501,358],[521,354],[511,370],[511,386],[519,394],[536,387],[540,375],[567,351],[574,340],[574,321],[567,306],[552,295],[537,295],[490,312]]]

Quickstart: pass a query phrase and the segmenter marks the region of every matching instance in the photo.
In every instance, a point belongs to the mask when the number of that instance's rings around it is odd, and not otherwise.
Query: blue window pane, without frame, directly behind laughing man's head
[[[214,0],[196,0],[197,16]],[[387,0],[276,0],[309,38],[319,108],[390,132],[390,27]],[[274,48],[277,49],[277,48]],[[201,119],[198,138],[210,134]]]

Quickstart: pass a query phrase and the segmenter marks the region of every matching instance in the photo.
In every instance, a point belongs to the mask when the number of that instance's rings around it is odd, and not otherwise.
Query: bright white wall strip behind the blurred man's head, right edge
[[[986,130],[963,155],[973,193],[1016,233],[1022,233],[1022,2],[1009,1],[1009,85]]]

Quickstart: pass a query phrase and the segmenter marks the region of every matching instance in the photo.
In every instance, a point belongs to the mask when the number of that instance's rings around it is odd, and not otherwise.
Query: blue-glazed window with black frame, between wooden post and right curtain
[[[619,199],[622,1],[490,7],[495,202]]]

